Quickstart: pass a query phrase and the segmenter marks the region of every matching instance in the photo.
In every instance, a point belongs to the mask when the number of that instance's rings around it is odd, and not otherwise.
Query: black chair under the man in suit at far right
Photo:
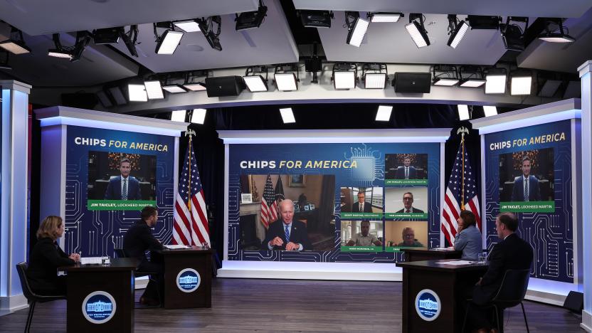
[[[499,318],[499,311],[503,311],[509,307],[515,307],[520,305],[522,307],[522,315],[524,315],[524,324],[526,324],[527,332],[530,333],[528,328],[527,313],[524,311],[524,295],[527,294],[528,281],[530,279],[530,269],[527,270],[506,270],[502,279],[502,285],[499,286],[497,294],[493,299],[485,305],[475,305],[469,302],[467,310],[465,311],[465,319],[462,322],[462,332],[465,332],[465,324],[467,322],[467,314],[470,307],[493,307],[495,310],[495,323],[499,333],[504,332],[504,323]]]

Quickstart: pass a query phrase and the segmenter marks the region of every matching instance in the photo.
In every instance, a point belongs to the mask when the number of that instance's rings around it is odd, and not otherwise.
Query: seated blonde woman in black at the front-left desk
[[[58,267],[74,265],[78,253],[69,256],[56,240],[63,236],[64,223],[60,216],[46,217],[37,230],[37,243],[29,258],[27,278],[33,292],[39,295],[65,295],[65,275],[58,276]]]

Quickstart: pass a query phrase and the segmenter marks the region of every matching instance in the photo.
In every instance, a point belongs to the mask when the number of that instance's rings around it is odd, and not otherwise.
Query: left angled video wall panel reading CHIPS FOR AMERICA
[[[154,235],[172,236],[174,137],[68,126],[65,252],[113,255],[144,206],[157,206]]]

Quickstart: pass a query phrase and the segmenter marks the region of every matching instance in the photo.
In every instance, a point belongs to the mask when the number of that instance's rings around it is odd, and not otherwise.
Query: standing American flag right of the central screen
[[[477,198],[476,185],[475,174],[472,172],[469,163],[469,155],[465,150],[465,140],[463,138],[460,142],[460,147],[458,147],[453,171],[450,174],[450,180],[448,181],[448,187],[446,188],[446,194],[444,196],[444,208],[442,211],[442,232],[450,245],[454,244],[454,238],[458,228],[456,220],[462,210],[472,211],[472,213],[475,214],[477,228],[481,230],[479,199]],[[462,194],[464,194],[464,196]]]

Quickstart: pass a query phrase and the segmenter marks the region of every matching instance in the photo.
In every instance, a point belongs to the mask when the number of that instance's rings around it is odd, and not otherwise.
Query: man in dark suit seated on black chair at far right
[[[472,290],[472,302],[476,305],[485,305],[495,297],[506,270],[530,269],[534,258],[532,246],[515,233],[518,219],[514,214],[499,214],[495,219],[495,228],[502,241],[491,250],[489,268]],[[490,332],[492,324],[488,318],[491,315],[487,311],[476,307],[470,309],[474,327],[480,327],[477,332]]]

